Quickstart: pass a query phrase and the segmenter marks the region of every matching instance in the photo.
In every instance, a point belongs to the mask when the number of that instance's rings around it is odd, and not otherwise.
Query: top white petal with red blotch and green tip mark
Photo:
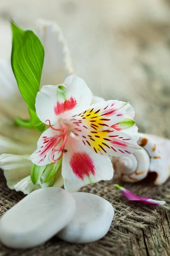
[[[37,116],[42,122],[49,119],[51,125],[55,125],[60,115],[65,119],[89,108],[91,97],[91,90],[83,79],[68,76],[63,84],[45,85],[37,93]]]

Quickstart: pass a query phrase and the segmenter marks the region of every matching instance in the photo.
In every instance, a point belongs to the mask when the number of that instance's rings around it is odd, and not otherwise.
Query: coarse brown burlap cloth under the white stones
[[[167,204],[162,207],[152,207],[138,202],[127,201],[121,192],[113,187],[113,183],[119,183],[138,195],[148,196],[157,200],[165,200]],[[69,244],[54,236],[45,244],[30,250],[11,250],[0,244],[0,256],[127,255],[125,253],[126,248],[128,247],[128,252],[130,252],[130,239],[132,236],[137,236],[140,239],[142,230],[145,227],[151,225],[154,228],[154,225],[160,221],[162,210],[169,211],[170,180],[166,184],[158,187],[152,186],[148,178],[138,184],[127,184],[120,181],[114,175],[113,180],[101,181],[85,186],[81,191],[99,195],[111,202],[114,207],[115,215],[111,228],[103,239],[89,244]],[[3,215],[23,197],[24,195],[22,193],[7,188],[3,172],[0,172],[0,215]],[[125,254],[121,254],[122,252]]]

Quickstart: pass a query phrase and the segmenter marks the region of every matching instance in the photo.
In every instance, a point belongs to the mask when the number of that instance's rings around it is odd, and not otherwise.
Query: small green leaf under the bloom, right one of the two
[[[48,164],[45,168],[45,171],[43,172],[42,179],[44,182],[48,182],[54,175],[56,175],[57,171],[61,167],[62,164],[62,158],[60,158],[56,163],[54,164]]]

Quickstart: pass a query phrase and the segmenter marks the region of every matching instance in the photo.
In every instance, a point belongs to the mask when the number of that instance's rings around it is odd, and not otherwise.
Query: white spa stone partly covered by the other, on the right
[[[71,243],[88,243],[108,233],[114,216],[113,206],[98,195],[75,192],[76,212],[57,237]]]

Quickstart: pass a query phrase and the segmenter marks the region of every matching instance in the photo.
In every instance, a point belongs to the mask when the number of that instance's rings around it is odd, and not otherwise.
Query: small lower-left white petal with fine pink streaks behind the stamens
[[[60,138],[62,140],[62,137],[56,137],[60,136],[61,134],[61,131],[58,131],[58,128],[58,125],[54,125],[53,128],[48,128],[41,134],[37,142],[37,150],[28,158],[34,164],[38,166],[45,166],[49,163],[53,163],[54,160],[51,158],[52,152],[54,152],[52,154],[54,159],[61,157],[62,151],[55,151],[55,149],[59,148],[59,146],[62,144],[60,141],[56,145]],[[54,129],[57,129],[57,131]]]

